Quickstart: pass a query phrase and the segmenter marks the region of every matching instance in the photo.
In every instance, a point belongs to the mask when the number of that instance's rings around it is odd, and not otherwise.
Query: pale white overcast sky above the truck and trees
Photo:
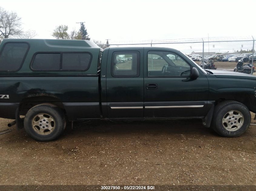
[[[164,40],[255,35],[256,1],[197,0],[1,0],[0,6],[16,11],[25,30],[36,38],[53,38],[56,26],[79,29],[85,22],[91,40]],[[250,9],[252,8],[252,9]],[[253,23],[253,24],[252,24]]]

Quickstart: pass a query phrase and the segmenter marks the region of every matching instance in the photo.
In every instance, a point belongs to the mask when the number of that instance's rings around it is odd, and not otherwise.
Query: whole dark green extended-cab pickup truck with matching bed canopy
[[[236,137],[256,112],[252,75],[203,70],[175,49],[103,51],[87,40],[4,39],[0,94],[0,117],[38,141],[87,119],[197,118]]]

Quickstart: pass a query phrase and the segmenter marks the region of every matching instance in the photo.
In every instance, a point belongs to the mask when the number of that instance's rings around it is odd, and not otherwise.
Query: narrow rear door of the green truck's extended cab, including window
[[[143,48],[111,48],[106,70],[108,118],[143,118]]]

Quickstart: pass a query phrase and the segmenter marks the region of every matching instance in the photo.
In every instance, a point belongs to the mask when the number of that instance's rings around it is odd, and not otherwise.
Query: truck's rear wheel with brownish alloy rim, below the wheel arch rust
[[[25,115],[24,129],[37,141],[58,138],[66,126],[64,113],[57,106],[44,103],[32,107]]]

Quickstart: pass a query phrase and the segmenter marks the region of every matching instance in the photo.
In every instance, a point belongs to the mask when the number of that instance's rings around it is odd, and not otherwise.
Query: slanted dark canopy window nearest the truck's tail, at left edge
[[[19,70],[27,50],[27,43],[6,43],[0,53],[0,71]]]

